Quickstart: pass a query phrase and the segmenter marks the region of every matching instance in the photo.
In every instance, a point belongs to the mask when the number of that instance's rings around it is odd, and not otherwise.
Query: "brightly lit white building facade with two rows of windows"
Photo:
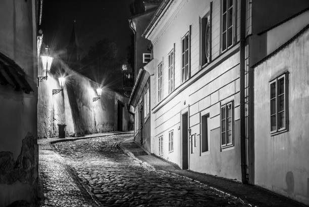
[[[239,17],[237,0],[170,1],[144,33],[153,44],[145,66],[152,86],[151,152],[182,169],[236,180]]]

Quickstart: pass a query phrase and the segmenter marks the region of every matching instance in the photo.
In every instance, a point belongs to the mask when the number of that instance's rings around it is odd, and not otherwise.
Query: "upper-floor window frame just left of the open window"
[[[188,45],[187,48],[185,43],[185,38],[188,37]],[[184,44],[183,44],[184,42]],[[188,53],[187,63],[185,62],[186,51]],[[188,66],[188,75],[186,73],[185,67]],[[181,37],[181,82],[184,83],[191,77],[191,25],[189,27],[189,31],[185,33],[184,36]]]

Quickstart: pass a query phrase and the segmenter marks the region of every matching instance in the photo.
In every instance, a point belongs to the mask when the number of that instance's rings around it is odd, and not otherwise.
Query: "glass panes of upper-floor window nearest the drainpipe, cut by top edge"
[[[221,46],[222,52],[233,45],[234,0],[222,0]]]

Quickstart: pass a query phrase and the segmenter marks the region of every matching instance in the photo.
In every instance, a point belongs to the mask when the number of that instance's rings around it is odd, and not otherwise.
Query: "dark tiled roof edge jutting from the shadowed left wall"
[[[0,85],[9,85],[15,91],[23,90],[26,94],[33,92],[25,72],[12,59],[0,52]]]

